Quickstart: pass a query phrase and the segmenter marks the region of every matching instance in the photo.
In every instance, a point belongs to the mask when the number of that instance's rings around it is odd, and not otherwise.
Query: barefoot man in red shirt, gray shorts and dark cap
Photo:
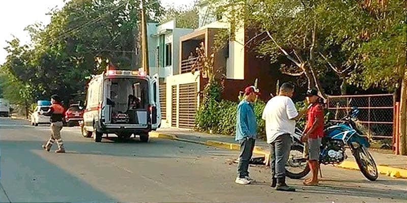
[[[324,137],[324,109],[318,104],[318,91],[308,90],[307,101],[311,106],[308,110],[307,124],[304,129],[302,141],[308,146],[308,165],[311,168],[312,178],[305,179],[304,185],[318,184],[319,153],[322,137]]]

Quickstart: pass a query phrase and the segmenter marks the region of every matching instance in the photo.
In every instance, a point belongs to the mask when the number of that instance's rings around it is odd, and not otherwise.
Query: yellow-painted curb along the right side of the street
[[[191,142],[191,143],[196,143],[196,144],[204,144],[206,146],[223,148],[223,149],[227,149],[227,150],[235,150],[235,151],[240,150],[239,144],[230,143],[230,142],[222,142],[222,141],[215,141],[215,140],[207,140],[205,142],[201,142],[201,141],[195,141],[195,140],[189,140],[189,139],[182,139],[182,138],[178,138],[176,135],[159,133],[159,132],[150,132],[150,137],[185,141],[185,142]],[[269,157],[270,157],[270,153],[268,151],[264,150],[261,147],[256,146],[256,147],[254,147],[253,153],[264,155],[265,164],[268,165]],[[339,165],[335,165],[335,167],[360,170],[358,163],[356,163],[354,161],[346,161],[346,160],[343,161]],[[379,172],[382,175],[390,176],[393,178],[407,179],[407,169],[395,168],[395,167],[384,166],[384,165],[377,165],[377,172]]]

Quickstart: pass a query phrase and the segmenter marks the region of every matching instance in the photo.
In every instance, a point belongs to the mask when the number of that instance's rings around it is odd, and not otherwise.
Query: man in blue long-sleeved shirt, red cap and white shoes
[[[257,135],[256,115],[252,103],[256,101],[259,94],[255,86],[248,86],[245,89],[245,98],[238,105],[235,137],[240,143],[238,177],[235,181],[238,184],[246,185],[255,182],[249,177],[248,168]]]

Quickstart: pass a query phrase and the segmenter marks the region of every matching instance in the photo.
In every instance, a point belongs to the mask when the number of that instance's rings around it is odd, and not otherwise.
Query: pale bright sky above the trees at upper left
[[[66,1],[66,0],[65,0]],[[163,7],[168,5],[181,6],[190,4],[192,0],[160,0]],[[64,0],[1,0],[0,1],[0,64],[6,61],[7,52],[4,47],[6,41],[13,36],[21,40],[22,44],[30,42],[30,36],[24,31],[27,25],[42,22],[48,24],[50,16],[46,15],[52,8],[62,8]]]

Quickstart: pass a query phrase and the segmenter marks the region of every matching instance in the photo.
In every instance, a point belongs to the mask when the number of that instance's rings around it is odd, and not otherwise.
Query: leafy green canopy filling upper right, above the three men
[[[230,32],[242,26],[258,34],[269,32],[273,40],[266,33],[258,35],[263,39],[258,53],[270,56],[272,63],[285,57],[289,61],[281,64],[281,72],[300,74],[317,88],[321,83],[329,94],[344,93],[345,88],[332,86],[346,86],[347,81],[364,89],[394,90],[399,78],[395,67],[405,66],[406,29],[402,26],[406,7],[402,0],[210,2],[217,14],[229,14],[225,20],[231,23]]]

